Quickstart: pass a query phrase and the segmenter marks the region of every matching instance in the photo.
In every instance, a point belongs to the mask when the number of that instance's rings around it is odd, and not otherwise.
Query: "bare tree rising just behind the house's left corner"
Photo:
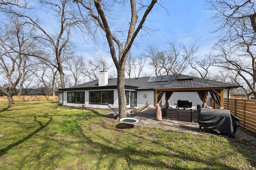
[[[26,18],[28,23],[37,27],[38,31],[42,35],[38,38],[41,38],[44,41],[44,48],[48,51],[48,55],[54,56],[55,63],[52,63],[52,66],[57,68],[60,75],[61,88],[65,88],[65,76],[64,69],[62,66],[63,57],[68,55],[69,51],[72,51],[74,48],[70,42],[70,35],[72,30],[78,28],[82,33],[90,34],[90,23],[86,16],[82,16],[79,13],[79,10],[76,8],[76,5],[70,0],[60,0],[54,1],[51,0],[40,0],[42,9],[45,9],[46,13],[51,12],[50,22],[56,21],[56,25],[52,30],[49,30],[44,27],[42,22],[39,22],[38,18],[33,18],[29,14],[17,14],[20,17]],[[58,31],[57,31],[58,30]],[[50,48],[50,50],[48,49]],[[44,59],[42,56],[37,56],[41,59]],[[48,61],[48,60],[46,60]]]

